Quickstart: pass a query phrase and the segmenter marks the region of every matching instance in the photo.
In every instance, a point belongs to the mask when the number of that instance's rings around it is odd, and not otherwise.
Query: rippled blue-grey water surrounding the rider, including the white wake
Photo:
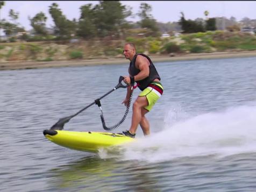
[[[98,154],[55,145],[42,131],[115,87],[127,65],[1,71],[0,191],[255,191],[255,58],[155,66],[165,90],[147,115],[151,136],[139,127],[136,143]],[[125,94],[101,100],[107,125],[122,118]],[[91,106],[65,130],[103,131],[99,115]]]

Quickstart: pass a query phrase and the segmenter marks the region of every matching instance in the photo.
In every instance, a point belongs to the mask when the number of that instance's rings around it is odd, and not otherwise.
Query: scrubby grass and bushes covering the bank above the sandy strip
[[[66,44],[53,41],[8,42],[0,45],[0,62],[123,58],[125,42],[133,42],[138,53],[151,55],[256,50],[256,35],[243,32],[208,31],[181,34],[180,37],[170,38],[127,37],[125,40],[81,40]]]

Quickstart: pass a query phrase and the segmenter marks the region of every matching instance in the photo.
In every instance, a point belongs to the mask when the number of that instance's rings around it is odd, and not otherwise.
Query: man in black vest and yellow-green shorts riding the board
[[[150,124],[145,115],[152,109],[153,105],[163,93],[163,87],[160,83],[161,79],[151,59],[145,54],[136,54],[134,44],[125,44],[123,52],[125,58],[131,61],[129,67],[130,76],[124,76],[124,82],[129,84],[126,97],[123,101],[125,106],[129,103],[129,98],[133,91],[131,84],[136,82],[141,93],[133,103],[130,130],[123,131],[122,134],[134,138],[137,127],[140,125],[144,136],[147,136],[150,134]]]

